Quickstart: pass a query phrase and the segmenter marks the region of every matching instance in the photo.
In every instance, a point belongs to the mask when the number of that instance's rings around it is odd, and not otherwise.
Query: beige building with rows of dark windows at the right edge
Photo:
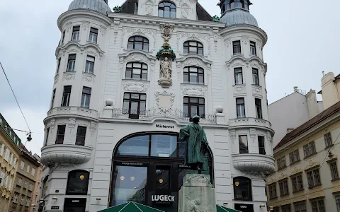
[[[267,178],[274,211],[340,211],[340,102],[290,131],[274,148]]]

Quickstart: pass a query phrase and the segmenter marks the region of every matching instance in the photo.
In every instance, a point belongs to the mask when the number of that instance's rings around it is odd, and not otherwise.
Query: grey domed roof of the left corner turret
[[[68,11],[77,9],[88,9],[97,11],[106,16],[107,12],[111,12],[111,8],[103,0],[74,0],[69,5]]]

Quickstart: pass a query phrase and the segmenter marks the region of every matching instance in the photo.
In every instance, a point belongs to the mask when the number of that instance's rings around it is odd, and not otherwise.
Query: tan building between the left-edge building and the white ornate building
[[[30,206],[35,204],[35,195],[39,196],[39,192],[35,190],[35,184],[37,183],[37,175],[39,175],[41,165],[22,144],[21,148],[23,148],[23,151],[21,158],[18,160],[18,171],[14,180],[10,211],[26,212],[33,211],[34,207],[31,208]]]

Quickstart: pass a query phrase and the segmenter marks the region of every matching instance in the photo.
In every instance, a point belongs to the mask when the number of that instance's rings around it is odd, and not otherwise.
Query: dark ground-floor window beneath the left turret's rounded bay
[[[67,179],[67,195],[86,195],[89,187],[90,173],[85,170],[73,170],[69,172]]]

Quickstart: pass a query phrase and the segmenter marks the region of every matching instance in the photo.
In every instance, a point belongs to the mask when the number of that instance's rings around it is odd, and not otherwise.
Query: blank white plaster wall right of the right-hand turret
[[[307,98],[297,92],[268,105],[268,112],[275,131],[273,147],[283,139],[288,129],[295,129],[309,120]]]

